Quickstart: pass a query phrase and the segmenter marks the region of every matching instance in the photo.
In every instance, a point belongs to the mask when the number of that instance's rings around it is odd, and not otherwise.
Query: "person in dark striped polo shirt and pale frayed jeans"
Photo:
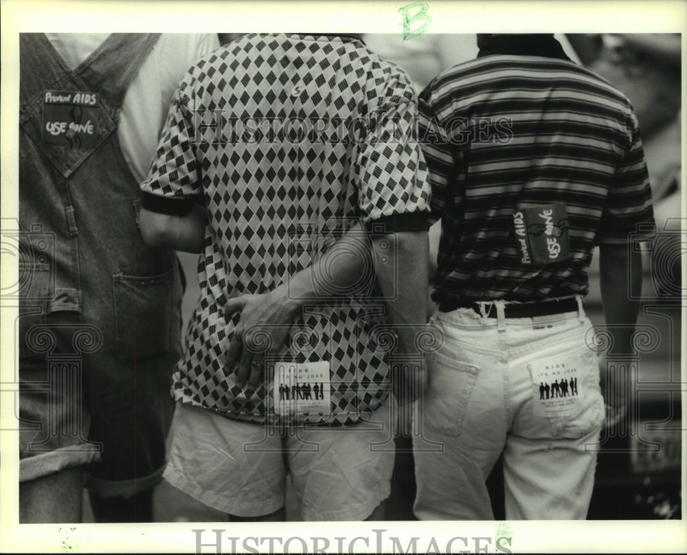
[[[444,451],[415,453],[415,513],[493,519],[484,482],[503,453],[506,519],[584,519],[596,466],[587,446],[604,403],[615,418],[627,400],[618,373],[602,398],[585,270],[600,245],[611,352],[630,353],[641,259],[627,243],[653,223],[638,121],[552,34],[482,34],[477,45],[475,60],[420,95],[442,226],[431,324],[444,334],[423,434]],[[574,399],[540,399],[541,383],[563,379]]]

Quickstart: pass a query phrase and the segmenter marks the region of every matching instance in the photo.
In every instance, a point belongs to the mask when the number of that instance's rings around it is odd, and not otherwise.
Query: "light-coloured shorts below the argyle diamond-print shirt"
[[[282,432],[180,403],[164,478],[216,510],[260,517],[284,506],[290,475],[302,520],[362,521],[390,495],[393,403],[352,426]]]

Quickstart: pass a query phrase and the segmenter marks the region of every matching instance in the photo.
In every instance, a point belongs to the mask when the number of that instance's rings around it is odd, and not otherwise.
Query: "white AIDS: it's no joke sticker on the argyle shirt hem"
[[[274,363],[275,414],[330,413],[327,361]]]

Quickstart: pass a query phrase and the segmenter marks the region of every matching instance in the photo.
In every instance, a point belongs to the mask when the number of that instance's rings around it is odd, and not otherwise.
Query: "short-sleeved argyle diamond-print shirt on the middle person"
[[[328,363],[328,411],[275,414],[269,372],[256,389],[238,387],[225,353],[239,315],[222,310],[310,266],[356,222],[373,233],[384,222],[424,224],[430,189],[416,117],[405,72],[354,37],[249,34],[188,71],[142,183],[146,209],[201,201],[208,213],[176,400],[247,422],[330,425],[383,403],[389,352],[376,341],[386,317],[375,287],[304,308],[275,357]]]

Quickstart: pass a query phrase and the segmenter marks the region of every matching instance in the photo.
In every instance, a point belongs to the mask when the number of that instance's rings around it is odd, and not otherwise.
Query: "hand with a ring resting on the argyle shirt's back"
[[[236,373],[238,387],[248,383],[256,388],[263,381],[264,357],[282,348],[297,309],[284,284],[270,293],[241,295],[227,301],[225,317],[240,313],[226,361],[227,371]]]

